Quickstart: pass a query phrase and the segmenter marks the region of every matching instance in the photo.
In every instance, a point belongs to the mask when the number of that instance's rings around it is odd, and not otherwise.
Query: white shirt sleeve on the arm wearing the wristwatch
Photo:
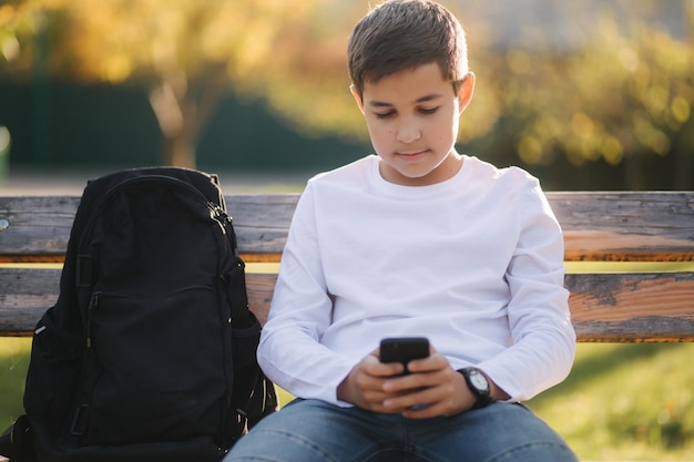
[[[513,343],[478,365],[512,401],[530,399],[562,381],[575,353],[569,291],[563,286],[563,236],[537,181],[517,211],[520,235],[506,274]]]

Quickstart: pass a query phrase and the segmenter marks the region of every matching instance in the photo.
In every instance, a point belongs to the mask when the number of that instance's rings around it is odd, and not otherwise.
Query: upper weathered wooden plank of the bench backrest
[[[694,192],[548,193],[568,260],[694,261]],[[239,249],[252,259],[282,253],[297,194],[226,196]],[[64,254],[79,197],[0,197],[0,261]],[[10,256],[10,257],[9,257]]]

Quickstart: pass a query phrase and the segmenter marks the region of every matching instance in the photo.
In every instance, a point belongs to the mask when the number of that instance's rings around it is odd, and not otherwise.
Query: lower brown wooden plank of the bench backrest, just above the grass
[[[0,268],[0,332],[30,335],[58,298],[60,269]],[[248,274],[265,322],[276,275]],[[567,275],[580,341],[694,341],[694,273]]]

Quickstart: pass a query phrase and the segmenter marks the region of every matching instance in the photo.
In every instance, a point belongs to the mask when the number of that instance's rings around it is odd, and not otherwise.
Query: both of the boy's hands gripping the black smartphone
[[[357,363],[337,389],[337,398],[374,412],[401,413],[410,419],[453,415],[469,410],[474,397],[463,377],[431,348],[425,359],[382,363],[374,351]]]

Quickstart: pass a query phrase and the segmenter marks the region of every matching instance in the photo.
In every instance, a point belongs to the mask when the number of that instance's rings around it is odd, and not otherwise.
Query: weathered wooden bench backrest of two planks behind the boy
[[[548,193],[568,263],[641,263],[568,274],[580,341],[694,341],[693,192]],[[31,335],[58,298],[78,196],[0,197],[0,336]],[[226,196],[249,265],[252,309],[267,316],[297,194]],[[47,264],[53,265],[47,265]],[[645,265],[644,265],[645,263]],[[670,263],[670,265],[669,265]],[[674,263],[674,264],[673,264]],[[584,264],[575,264],[581,266]]]

